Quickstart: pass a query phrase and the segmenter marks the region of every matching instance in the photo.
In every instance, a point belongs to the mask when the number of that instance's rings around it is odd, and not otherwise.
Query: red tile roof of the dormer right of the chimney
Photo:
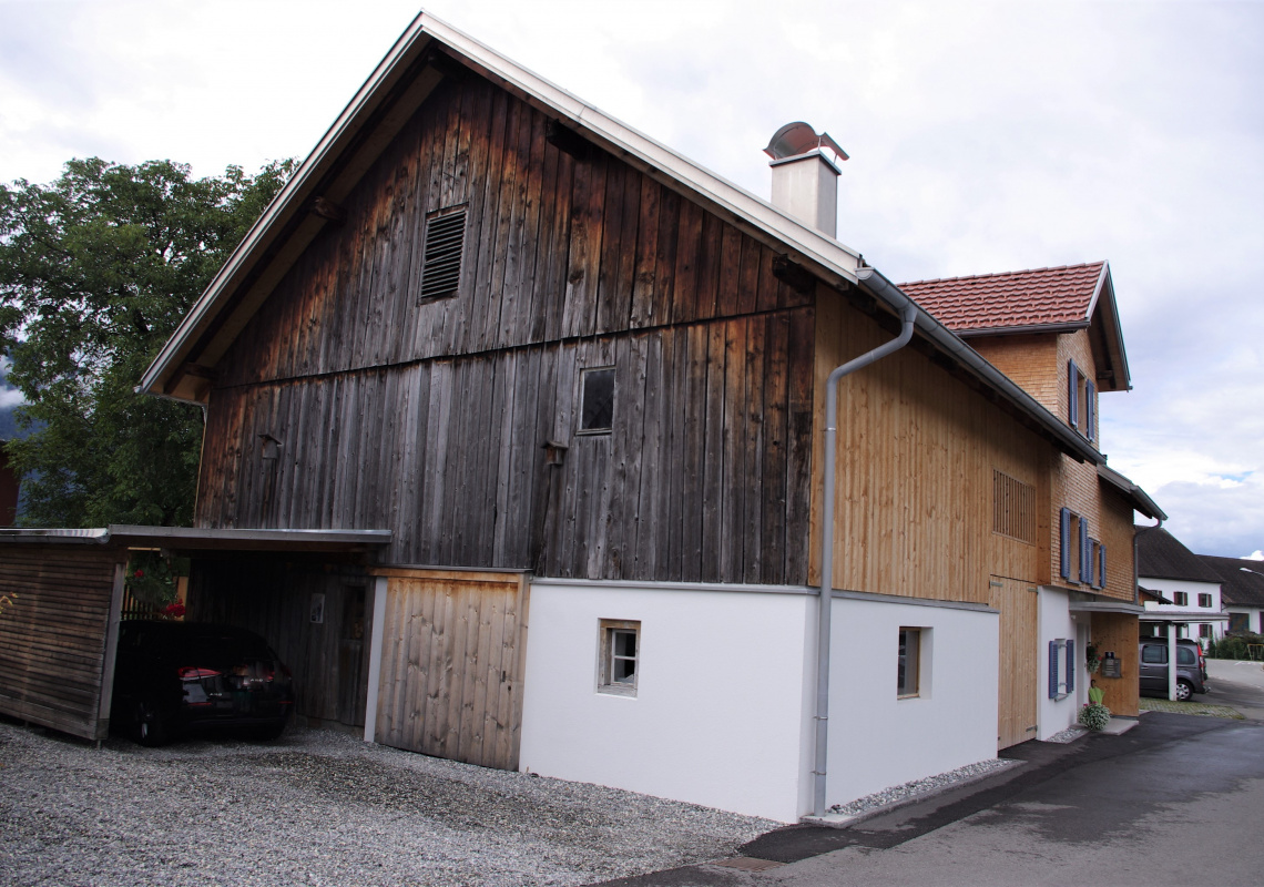
[[[901,283],[953,331],[1087,323],[1105,262]]]

